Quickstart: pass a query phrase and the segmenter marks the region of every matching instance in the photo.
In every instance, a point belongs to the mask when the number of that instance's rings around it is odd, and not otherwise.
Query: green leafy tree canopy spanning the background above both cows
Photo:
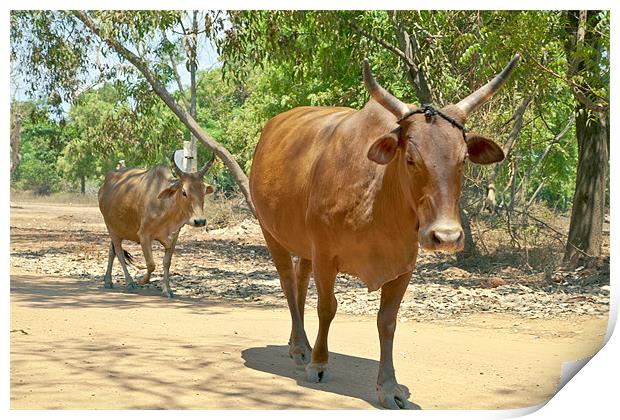
[[[573,49],[576,15],[562,11],[213,11],[201,12],[199,33],[186,35],[178,34],[188,28],[188,12],[88,14],[104,34],[114,35],[148,62],[166,86],[174,81],[170,56],[188,58],[187,46],[199,34],[213,40],[222,67],[198,73],[196,119],[246,172],[260,130],[274,115],[300,105],[362,107],[368,99],[360,70],[364,57],[384,87],[406,102],[419,103],[405,62],[389,48],[400,48],[396,23],[415,34],[414,54],[438,105],[462,99],[515,53],[522,55],[509,83],[467,123],[504,143],[518,104],[532,98],[509,156],[518,159],[517,183],[574,112],[567,80],[596,103],[609,98],[608,11],[588,13],[586,42]],[[590,42],[593,34],[596,42]],[[69,12],[11,13],[13,66],[22,69],[31,91],[50,105],[74,101],[62,128],[66,144],[57,154],[57,171],[73,182],[82,176],[96,179],[121,158],[133,166],[165,161],[182,139],[189,139],[142,75],[111,52]],[[569,74],[572,62],[578,66]],[[108,83],[79,94],[93,79]],[[176,92],[177,99],[181,94],[189,96]],[[198,150],[202,163],[210,153]],[[23,165],[28,166],[27,160]],[[502,191],[510,192],[510,166],[504,164],[496,180],[500,200]],[[576,166],[571,129],[534,170],[524,197],[544,179],[539,197],[560,208],[570,206]],[[492,170],[471,166],[469,187],[479,193]],[[221,163],[212,178],[219,190],[234,190]]]

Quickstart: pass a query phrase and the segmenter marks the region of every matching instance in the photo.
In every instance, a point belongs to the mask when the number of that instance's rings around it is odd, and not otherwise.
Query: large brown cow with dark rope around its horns
[[[463,248],[458,207],[465,160],[489,164],[504,158],[498,145],[466,134],[463,124],[517,61],[515,56],[458,104],[435,110],[392,96],[375,82],[365,60],[371,99],[363,109],[300,107],[266,124],[250,189],[291,313],[289,354],[298,365],[307,364],[310,381],[325,379],[336,274],[352,274],[369,291],[381,288],[379,400],[388,408],[405,406],[392,343],[418,244],[432,251]],[[293,263],[291,255],[299,260]],[[313,350],[303,326],[310,272],[319,316]]]

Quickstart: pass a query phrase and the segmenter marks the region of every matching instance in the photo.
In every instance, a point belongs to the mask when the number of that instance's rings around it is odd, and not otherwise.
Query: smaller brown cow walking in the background
[[[203,177],[212,163],[213,159],[200,171],[185,173],[176,165],[173,156],[173,170],[178,178],[173,177],[167,165],[148,170],[123,169],[106,175],[99,189],[99,209],[112,243],[108,253],[104,287],[112,288],[112,264],[115,256],[123,267],[126,287],[136,287],[127,271],[127,262],[131,263],[131,256],[122,249],[121,243],[124,239],[142,245],[147,272],[140,283],[148,283],[155,270],[151,245],[152,241],[156,240],[165,248],[162,294],[172,297],[169,270],[174,246],[183,225],[206,224],[204,197],[213,192],[213,187],[205,186]]]

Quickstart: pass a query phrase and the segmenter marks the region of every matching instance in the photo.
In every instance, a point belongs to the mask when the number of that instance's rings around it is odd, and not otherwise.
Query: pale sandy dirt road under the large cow
[[[70,221],[70,227],[100,224],[82,221],[88,212],[80,208],[15,207],[12,228],[32,229],[34,236],[31,244],[12,241],[12,250],[30,246],[35,252],[54,243],[41,212],[49,220]],[[311,384],[288,357],[290,321],[283,305],[167,300],[157,290],[106,290],[88,278],[39,269],[11,269],[13,409],[378,407],[373,316],[336,316],[330,382]],[[552,397],[562,362],[600,348],[606,325],[606,318],[588,315],[527,319],[494,313],[399,322],[397,377],[411,393],[411,407],[532,406]],[[309,313],[311,341],[316,328]]]

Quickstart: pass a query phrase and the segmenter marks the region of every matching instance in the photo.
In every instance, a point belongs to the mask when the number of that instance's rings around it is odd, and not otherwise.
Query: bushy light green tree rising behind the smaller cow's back
[[[58,167],[85,192],[88,179],[102,179],[119,159],[133,167],[168,162],[181,127],[159,101],[140,107],[123,83],[105,83],[82,93],[69,110]]]

